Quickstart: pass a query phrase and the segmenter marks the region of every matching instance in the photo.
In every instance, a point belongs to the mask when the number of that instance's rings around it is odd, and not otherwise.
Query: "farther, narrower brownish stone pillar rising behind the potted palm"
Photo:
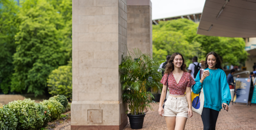
[[[127,0],[127,48],[138,48],[152,57],[152,4],[150,0]]]

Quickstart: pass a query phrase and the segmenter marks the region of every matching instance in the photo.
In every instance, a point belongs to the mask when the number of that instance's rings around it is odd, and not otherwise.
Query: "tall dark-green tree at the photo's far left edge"
[[[13,71],[13,54],[16,52],[15,34],[19,20],[19,7],[14,0],[0,0],[0,88],[4,94],[10,91]]]

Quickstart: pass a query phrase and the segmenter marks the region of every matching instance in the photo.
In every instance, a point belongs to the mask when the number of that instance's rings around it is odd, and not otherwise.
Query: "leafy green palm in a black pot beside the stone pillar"
[[[142,54],[139,49],[133,49],[134,53],[128,53],[122,57],[119,71],[121,72],[121,88],[124,91],[122,98],[128,104],[127,115],[131,129],[141,129],[145,117],[145,110],[151,109],[152,98],[150,88],[160,88],[161,74],[158,72],[158,61],[149,55]]]

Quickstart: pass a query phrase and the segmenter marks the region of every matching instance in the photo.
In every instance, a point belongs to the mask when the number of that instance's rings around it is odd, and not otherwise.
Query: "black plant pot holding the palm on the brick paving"
[[[141,129],[143,127],[145,115],[146,114],[141,114],[141,115],[127,114],[127,116],[129,117],[131,129]]]

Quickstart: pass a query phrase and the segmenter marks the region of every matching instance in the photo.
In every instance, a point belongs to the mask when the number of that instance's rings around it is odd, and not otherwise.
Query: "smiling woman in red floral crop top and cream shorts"
[[[184,130],[188,116],[193,116],[190,88],[195,84],[195,81],[185,69],[186,67],[187,65],[180,53],[172,54],[161,80],[164,85],[158,113],[160,116],[164,116],[168,130]],[[167,84],[170,95],[165,101],[163,109]]]

